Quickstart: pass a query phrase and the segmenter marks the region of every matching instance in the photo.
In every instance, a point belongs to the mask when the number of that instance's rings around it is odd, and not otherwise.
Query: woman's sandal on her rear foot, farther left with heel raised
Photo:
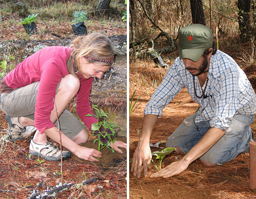
[[[34,126],[23,127],[20,125],[18,119],[18,117],[14,118],[6,115],[6,122],[8,123],[7,135],[9,135],[13,142],[24,140],[25,137],[30,136],[33,132],[36,131],[36,127]],[[18,126],[18,128],[14,127],[15,125]]]

